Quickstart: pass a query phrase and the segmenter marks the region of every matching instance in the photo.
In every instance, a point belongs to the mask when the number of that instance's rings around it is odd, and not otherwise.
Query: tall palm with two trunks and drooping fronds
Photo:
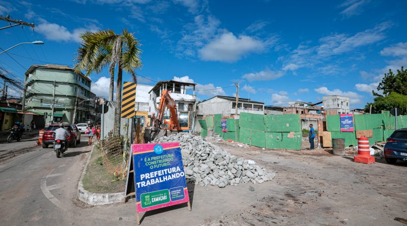
[[[104,67],[109,66],[110,89],[109,99],[113,99],[114,68],[118,67],[116,86],[116,108],[114,113],[114,131],[120,134],[120,113],[122,105],[122,75],[123,70],[132,75],[137,83],[135,70],[141,68],[139,49],[140,43],[127,29],[122,35],[113,30],[100,30],[95,33],[85,31],[80,35],[82,43],[75,57],[75,71],[85,71],[89,76],[92,72],[100,73]]]

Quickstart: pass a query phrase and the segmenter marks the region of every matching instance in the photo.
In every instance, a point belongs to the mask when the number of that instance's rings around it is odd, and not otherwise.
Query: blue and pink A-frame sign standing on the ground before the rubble
[[[189,204],[179,143],[133,144],[137,214]]]

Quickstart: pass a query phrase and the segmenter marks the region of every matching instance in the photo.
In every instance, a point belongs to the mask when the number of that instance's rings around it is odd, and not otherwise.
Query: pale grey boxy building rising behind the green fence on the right
[[[328,95],[323,96],[322,104],[327,115],[349,114],[351,113],[349,98],[347,96]]]

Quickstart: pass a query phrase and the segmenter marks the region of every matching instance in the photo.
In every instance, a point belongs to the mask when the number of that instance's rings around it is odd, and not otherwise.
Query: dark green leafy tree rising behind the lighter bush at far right
[[[385,77],[377,86],[377,90],[383,90],[384,95],[388,95],[391,92],[407,95],[407,70],[401,67],[401,70],[397,70],[395,75],[392,70],[385,74]],[[375,96],[383,96],[375,91],[372,91]]]

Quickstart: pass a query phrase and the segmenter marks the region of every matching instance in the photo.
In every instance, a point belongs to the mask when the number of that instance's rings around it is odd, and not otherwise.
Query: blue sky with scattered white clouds
[[[227,86],[239,81],[241,97],[267,105],[337,94],[359,108],[372,101],[371,90],[389,68],[407,65],[406,10],[406,1],[369,0],[0,0],[0,14],[36,24],[35,32],[19,26],[0,30],[1,48],[46,43],[10,51],[21,65],[6,54],[0,63],[22,78],[40,61],[73,64],[85,29],[128,28],[142,44],[137,73],[147,79],[139,77],[139,83],[195,82],[204,100],[235,95],[235,87]],[[99,95],[107,94],[107,75],[91,75]],[[124,81],[130,80],[125,74]]]

